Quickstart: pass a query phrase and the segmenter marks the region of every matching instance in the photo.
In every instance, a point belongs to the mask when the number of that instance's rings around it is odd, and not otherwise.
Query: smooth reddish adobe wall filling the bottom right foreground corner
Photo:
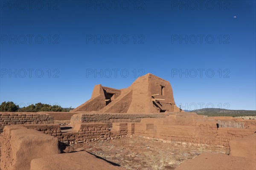
[[[255,170],[256,134],[233,139],[229,143],[229,156],[223,153],[202,153],[195,159],[184,161],[175,170]]]

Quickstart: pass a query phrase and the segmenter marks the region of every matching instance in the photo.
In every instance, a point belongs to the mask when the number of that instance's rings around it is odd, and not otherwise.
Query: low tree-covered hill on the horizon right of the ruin
[[[256,116],[256,111],[247,110],[227,110],[220,108],[203,108],[193,110],[191,112],[196,112],[199,115],[207,116]]]

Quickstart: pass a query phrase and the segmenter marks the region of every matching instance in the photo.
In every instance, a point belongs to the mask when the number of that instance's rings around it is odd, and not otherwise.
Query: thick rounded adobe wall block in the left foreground
[[[29,170],[32,159],[60,153],[57,138],[22,125],[4,127],[0,145],[1,170]]]

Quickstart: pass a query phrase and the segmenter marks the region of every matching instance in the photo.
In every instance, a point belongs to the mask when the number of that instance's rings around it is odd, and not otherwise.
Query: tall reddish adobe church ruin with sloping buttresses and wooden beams
[[[76,111],[161,113],[180,110],[175,105],[170,82],[148,73],[120,90],[95,85],[91,99],[73,110]]]

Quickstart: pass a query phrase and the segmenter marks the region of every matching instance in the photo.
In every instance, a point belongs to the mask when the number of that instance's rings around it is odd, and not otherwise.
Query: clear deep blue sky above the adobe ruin
[[[183,109],[256,110],[254,0],[29,2],[0,0],[0,102],[74,108],[151,73]]]

